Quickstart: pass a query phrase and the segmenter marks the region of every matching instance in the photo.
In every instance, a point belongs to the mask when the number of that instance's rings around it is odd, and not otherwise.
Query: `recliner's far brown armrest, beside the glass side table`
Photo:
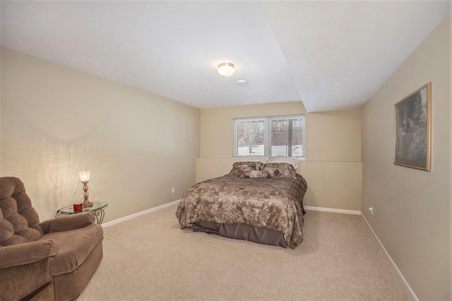
[[[82,212],[71,214],[70,216],[59,216],[58,218],[52,218],[52,220],[44,220],[40,223],[40,226],[44,234],[47,234],[85,228],[92,223],[94,223],[93,212]]]

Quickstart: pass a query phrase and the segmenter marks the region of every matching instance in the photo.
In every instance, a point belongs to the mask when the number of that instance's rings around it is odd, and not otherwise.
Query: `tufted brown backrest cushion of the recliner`
[[[35,242],[44,233],[39,216],[16,177],[0,178],[0,247]]]

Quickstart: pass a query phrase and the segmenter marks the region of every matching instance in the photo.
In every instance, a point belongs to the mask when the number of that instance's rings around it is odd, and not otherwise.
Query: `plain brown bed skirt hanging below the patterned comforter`
[[[249,240],[259,244],[270,244],[278,247],[287,247],[283,232],[273,229],[254,228],[244,224],[218,224],[199,221],[193,224],[194,232],[206,232],[236,240]]]

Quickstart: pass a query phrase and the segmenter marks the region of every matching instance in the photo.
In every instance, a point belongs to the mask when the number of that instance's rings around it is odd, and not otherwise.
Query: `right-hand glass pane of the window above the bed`
[[[273,119],[271,122],[271,156],[303,156],[303,128],[299,119]]]

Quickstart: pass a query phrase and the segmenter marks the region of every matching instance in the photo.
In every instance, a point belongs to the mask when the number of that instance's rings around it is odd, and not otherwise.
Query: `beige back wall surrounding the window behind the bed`
[[[201,157],[196,182],[225,175],[233,155],[233,119],[305,114],[302,102],[201,110]],[[306,206],[361,210],[361,112],[307,113],[306,161],[298,168],[308,182]]]

